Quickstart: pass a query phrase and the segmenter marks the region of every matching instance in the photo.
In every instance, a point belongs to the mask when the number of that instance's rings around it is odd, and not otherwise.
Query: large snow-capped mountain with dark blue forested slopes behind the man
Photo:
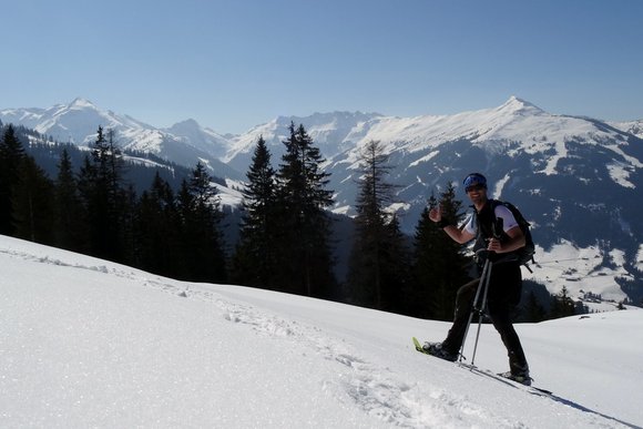
[[[540,248],[529,277],[620,300],[643,298],[643,140],[604,122],[552,115],[511,98],[503,105],[449,116],[376,118],[347,135],[353,149],[329,160],[335,210],[353,213],[359,149],[381,141],[397,210],[412,233],[432,192],[473,171],[493,197],[513,202],[532,223]],[[463,192],[459,193],[465,202]],[[564,255],[564,256],[562,256]],[[619,298],[619,296],[621,298]]]

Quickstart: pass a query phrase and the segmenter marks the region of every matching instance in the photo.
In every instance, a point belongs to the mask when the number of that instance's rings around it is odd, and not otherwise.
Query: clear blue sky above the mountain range
[[[511,95],[643,119],[642,0],[3,1],[0,109],[85,98],[155,126],[412,116]]]

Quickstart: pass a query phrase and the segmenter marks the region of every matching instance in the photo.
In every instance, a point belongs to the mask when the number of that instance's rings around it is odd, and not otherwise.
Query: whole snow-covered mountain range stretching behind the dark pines
[[[275,167],[288,125],[303,124],[327,159],[336,213],[354,214],[360,149],[382,142],[397,211],[412,234],[431,193],[460,185],[470,172],[490,181],[493,197],[511,201],[532,223],[539,266],[532,278],[550,290],[565,286],[621,300],[643,300],[643,121],[606,123],[553,115],[518,98],[455,115],[394,118],[377,113],[316,113],[277,118],[242,135],[223,135],[188,120],[155,129],[76,99],[50,109],[0,110],[3,123],[22,124],[60,142],[88,144],[99,125],[116,131],[127,149],[177,164],[206,162],[214,175],[243,180],[262,135]],[[460,193],[466,202],[463,191]]]

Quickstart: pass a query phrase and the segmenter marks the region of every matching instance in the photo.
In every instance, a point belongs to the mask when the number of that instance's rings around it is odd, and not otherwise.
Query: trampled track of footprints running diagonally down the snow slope
[[[334,389],[336,399],[349,398],[367,415],[382,422],[400,427],[496,427],[525,428],[527,425],[503,418],[480,406],[468,396],[459,396],[427,382],[408,382],[405,376],[388,367],[369,362],[346,341],[325,335],[318,327],[288,320],[268,310],[256,309],[251,305],[232,303],[216,292],[204,290],[198,284],[172,280],[163,277],[150,278],[147,273],[122,265],[69,264],[49,256],[34,256],[21,251],[0,251],[11,257],[52,264],[96,273],[115,275],[137,284],[185,299],[201,299],[212,303],[221,316],[231,323],[253,329],[257,335],[276,339],[288,339],[302,348],[305,356],[313,350],[324,359],[337,364],[341,371],[334,379],[323,381],[323,389]],[[88,258],[90,261],[91,258]],[[98,259],[96,259],[98,261]],[[127,270],[129,269],[129,270]],[[174,283],[174,284],[173,284]],[[182,287],[183,285],[185,287]],[[191,288],[193,286],[195,288]],[[408,377],[407,377],[408,378]],[[467,418],[463,419],[463,416]],[[586,416],[584,423],[595,427],[613,427],[596,416]],[[629,426],[629,425],[627,425]]]

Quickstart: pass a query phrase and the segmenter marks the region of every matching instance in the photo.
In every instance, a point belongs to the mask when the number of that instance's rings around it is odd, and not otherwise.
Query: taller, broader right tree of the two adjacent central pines
[[[327,297],[335,287],[330,221],[325,212],[333,203],[333,192],[326,190],[329,174],[319,167],[324,160],[304,125],[295,129],[290,123],[289,132],[277,172],[280,223],[275,244],[280,272],[276,282],[283,290]]]

